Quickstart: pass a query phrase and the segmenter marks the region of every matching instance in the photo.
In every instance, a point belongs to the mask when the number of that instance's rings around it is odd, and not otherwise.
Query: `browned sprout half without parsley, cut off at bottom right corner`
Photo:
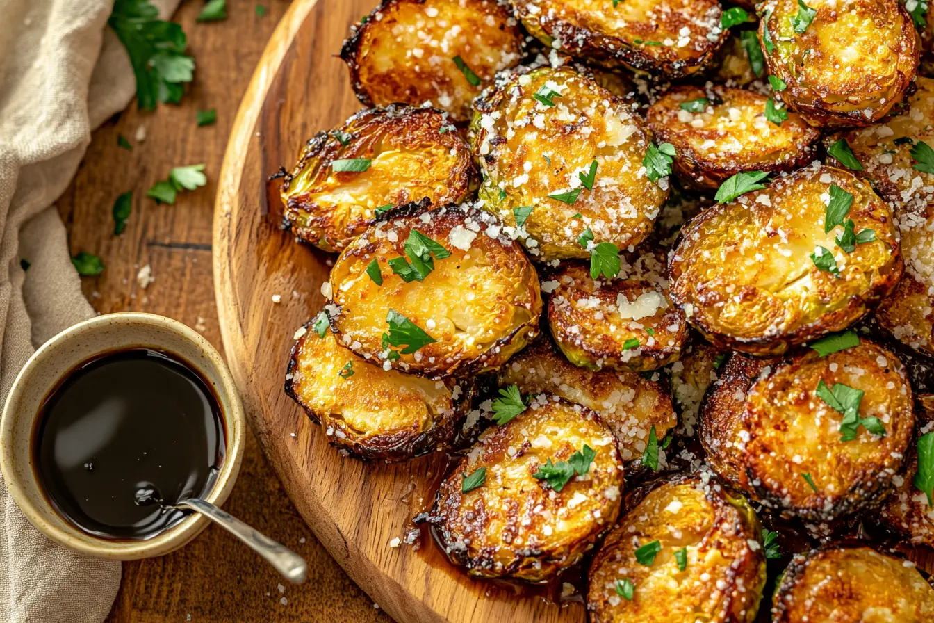
[[[771,613],[772,623],[927,623],[934,588],[904,560],[870,547],[828,547],[792,559]]]

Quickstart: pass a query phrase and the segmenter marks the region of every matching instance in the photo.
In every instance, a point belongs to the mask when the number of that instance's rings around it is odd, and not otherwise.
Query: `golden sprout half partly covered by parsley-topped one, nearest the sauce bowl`
[[[292,347],[286,393],[334,446],[361,459],[406,460],[455,437],[474,381],[384,370],[340,346],[327,324],[315,324]]]

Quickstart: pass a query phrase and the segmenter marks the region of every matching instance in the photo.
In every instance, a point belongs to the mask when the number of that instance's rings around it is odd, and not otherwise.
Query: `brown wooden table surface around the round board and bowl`
[[[93,134],[78,175],[58,207],[72,253],[85,250],[105,262],[101,276],[83,282],[97,311],[162,314],[196,328],[215,347],[222,347],[211,269],[215,180],[253,67],[288,8],[284,0],[259,2],[267,10],[264,17],[256,15],[257,0],[227,0],[227,20],[211,23],[195,22],[202,2],[184,3],[174,19],[188,34],[197,69],[183,103],[160,106],[155,112],[140,112],[133,103]],[[196,111],[212,107],[218,111],[217,123],[197,127]],[[117,145],[118,135],[130,140],[133,151]],[[195,163],[206,165],[205,188],[179,193],[175,205],[157,205],[146,197],[172,167]],[[114,237],[111,208],[120,193],[131,190],[132,216],[126,231]],[[136,275],[147,264],[155,281],[144,289]],[[318,544],[252,435],[236,488],[224,507],[304,556],[308,581],[280,590],[282,582],[268,565],[232,536],[211,527],[174,554],[124,564],[120,593],[107,621],[391,620]]]

